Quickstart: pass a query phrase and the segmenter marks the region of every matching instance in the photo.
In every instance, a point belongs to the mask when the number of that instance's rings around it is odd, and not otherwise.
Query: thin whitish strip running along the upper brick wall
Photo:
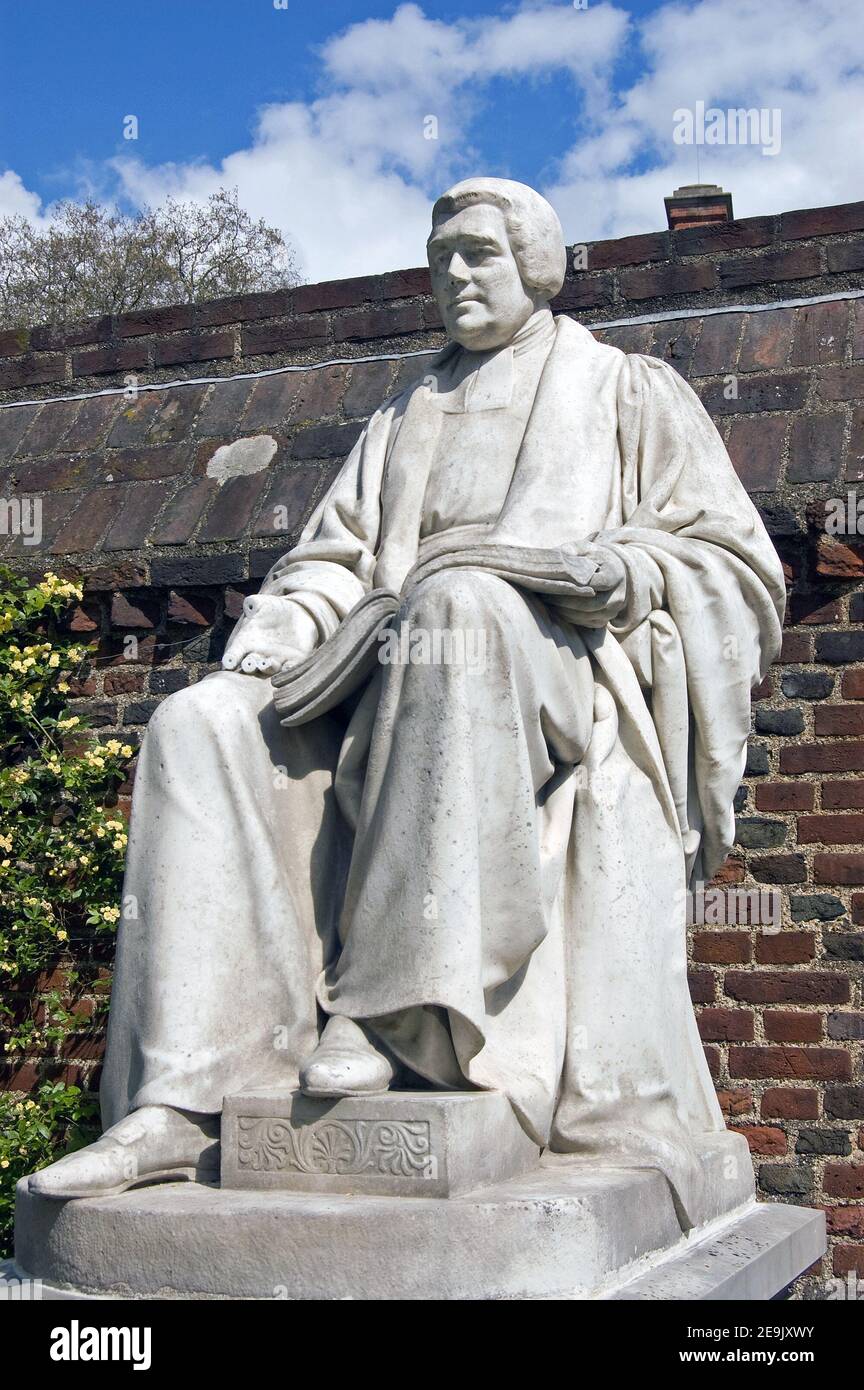
[[[626,328],[629,324],[668,324],[682,318],[713,318],[717,314],[764,314],[771,309],[800,309],[807,304],[832,304],[842,299],[864,299],[864,289],[847,289],[838,295],[811,295],[807,299],[775,299],[770,304],[718,304],[703,309],[671,309],[664,314],[638,314],[633,318],[607,318],[600,324],[585,324],[586,328]],[[261,377],[279,377],[290,371],[321,371],[324,367],[350,367],[357,361],[406,361],[408,357],[433,357],[440,348],[419,348],[411,352],[385,352],[371,357],[329,357],[328,361],[294,363],[289,367],[267,367],[263,371],[239,371],[232,377],[181,377],[176,381],[151,381],[135,388],[136,395],[144,391],[172,391],[174,386],[214,386],[225,381],[257,381]],[[19,406],[47,406],[56,400],[93,400],[97,396],[122,396],[126,386],[107,386],[104,391],[83,391],[71,396],[36,396],[32,400],[7,400],[0,410],[15,410]]]

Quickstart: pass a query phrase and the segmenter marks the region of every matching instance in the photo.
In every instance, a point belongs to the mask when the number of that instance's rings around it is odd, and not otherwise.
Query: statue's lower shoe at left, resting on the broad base
[[[213,1180],[218,1173],[218,1115],[143,1105],[88,1148],[33,1173],[38,1197],[115,1197],[140,1183]]]

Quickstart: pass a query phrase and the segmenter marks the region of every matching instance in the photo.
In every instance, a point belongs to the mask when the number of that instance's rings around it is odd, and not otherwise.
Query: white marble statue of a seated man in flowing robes
[[[539,1148],[696,1200],[724,1122],[686,895],[733,838],[781,566],[681,377],[553,318],[543,197],[457,183],[428,257],[449,345],[375,411],[224,670],[150,723],[106,1133],[31,1179],[44,1197],[207,1177],[243,1088],[396,1086],[501,1091]],[[406,585],[442,542],[453,563]],[[590,580],[547,582],[550,550]],[[271,677],[376,589],[390,634],[472,635],[482,660],[381,659],[285,727]]]

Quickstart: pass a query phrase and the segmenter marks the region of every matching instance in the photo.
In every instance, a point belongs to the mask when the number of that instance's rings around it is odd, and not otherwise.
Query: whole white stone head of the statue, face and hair
[[[450,338],[471,352],[503,348],[564,284],[557,213],[526,183],[470,178],[432,208],[432,291]]]

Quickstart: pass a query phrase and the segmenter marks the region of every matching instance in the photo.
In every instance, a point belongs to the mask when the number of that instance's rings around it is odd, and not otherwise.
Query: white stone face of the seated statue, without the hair
[[[522,284],[500,207],[475,203],[436,222],[426,252],[445,328],[463,348],[503,348],[538,307]]]

